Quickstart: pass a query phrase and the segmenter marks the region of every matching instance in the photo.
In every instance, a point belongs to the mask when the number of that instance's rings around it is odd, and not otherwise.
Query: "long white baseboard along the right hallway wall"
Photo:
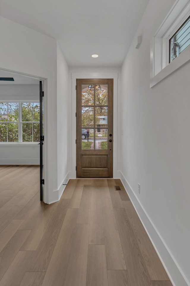
[[[129,186],[126,178],[121,172],[121,181],[126,189],[127,194],[129,195],[130,200],[147,232],[153,247],[155,248],[163,266],[166,270],[173,286],[190,286],[189,282],[187,281],[185,275],[181,271],[180,267],[178,266],[177,262],[170,253],[169,249],[167,248],[166,244],[164,243],[162,237],[159,235],[156,227],[151,222],[151,219],[148,217],[147,213],[143,209],[143,206],[140,204],[139,200],[137,199],[135,193],[132,191],[131,187]]]

